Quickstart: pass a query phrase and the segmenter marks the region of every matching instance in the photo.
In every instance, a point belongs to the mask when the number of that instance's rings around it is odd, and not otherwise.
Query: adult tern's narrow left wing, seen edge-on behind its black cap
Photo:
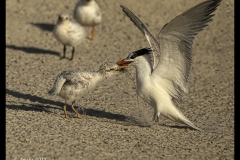
[[[145,37],[148,40],[148,43],[151,46],[152,49],[152,66],[153,69],[156,68],[159,57],[160,57],[160,50],[159,50],[159,43],[158,41],[153,37],[153,35],[148,31],[147,27],[141,22],[140,19],[137,18],[127,7],[120,5],[122,7],[123,12],[126,13],[126,15],[130,18],[130,20],[138,27],[138,29],[145,35]]]

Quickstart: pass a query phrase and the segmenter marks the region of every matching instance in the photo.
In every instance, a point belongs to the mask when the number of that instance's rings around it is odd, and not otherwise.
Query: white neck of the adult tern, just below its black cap
[[[143,80],[149,77],[152,73],[152,64],[149,55],[137,57],[137,63],[135,64],[136,76],[138,80]]]

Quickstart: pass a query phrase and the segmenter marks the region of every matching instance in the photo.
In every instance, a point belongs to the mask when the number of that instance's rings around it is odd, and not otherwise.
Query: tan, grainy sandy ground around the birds
[[[99,0],[103,22],[73,61],[60,60],[52,29],[72,16],[77,0],[6,1],[6,159],[234,159],[234,1],[223,0],[193,45],[189,93],[178,107],[200,133],[164,117],[151,127],[152,109],[125,74],[106,79],[65,120],[63,100],[47,91],[63,70],[97,70],[148,47],[119,7],[127,6],[157,35],[164,24],[202,0]],[[90,28],[87,28],[90,35]],[[70,57],[71,49],[67,49]],[[129,72],[134,77],[135,70]],[[138,103],[137,103],[138,102]],[[141,123],[140,123],[141,122]]]

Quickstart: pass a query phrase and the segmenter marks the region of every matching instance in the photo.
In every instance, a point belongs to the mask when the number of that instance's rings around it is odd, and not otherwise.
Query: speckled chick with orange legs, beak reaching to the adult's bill
[[[63,71],[57,76],[52,89],[48,93],[50,95],[58,95],[65,100],[63,107],[65,118],[69,119],[66,112],[66,104],[69,104],[77,114],[77,117],[81,119],[82,116],[74,108],[75,102],[88,91],[95,89],[104,78],[114,75],[118,70],[118,65],[105,62],[96,72]]]

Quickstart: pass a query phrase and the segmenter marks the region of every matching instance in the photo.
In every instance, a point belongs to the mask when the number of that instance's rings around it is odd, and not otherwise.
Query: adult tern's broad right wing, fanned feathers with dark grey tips
[[[181,102],[182,94],[188,92],[194,37],[212,20],[214,14],[211,13],[220,2],[207,0],[190,8],[166,24],[159,33],[162,59],[152,76],[159,79],[178,102]]]

